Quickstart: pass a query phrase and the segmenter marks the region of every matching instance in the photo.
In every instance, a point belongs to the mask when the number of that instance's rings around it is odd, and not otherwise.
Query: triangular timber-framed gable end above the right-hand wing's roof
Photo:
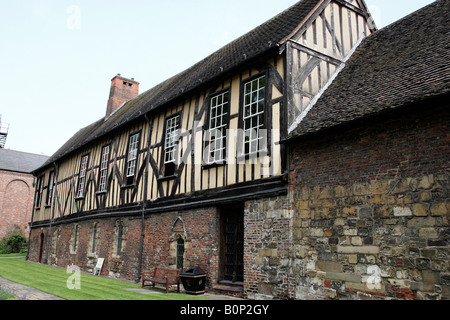
[[[322,1],[288,38],[288,133],[344,68],[361,41],[376,31],[364,1]]]

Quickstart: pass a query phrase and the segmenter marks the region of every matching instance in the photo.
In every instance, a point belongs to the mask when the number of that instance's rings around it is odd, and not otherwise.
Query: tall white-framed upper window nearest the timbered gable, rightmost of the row
[[[244,85],[244,153],[266,149],[265,145],[266,77],[261,76]]]

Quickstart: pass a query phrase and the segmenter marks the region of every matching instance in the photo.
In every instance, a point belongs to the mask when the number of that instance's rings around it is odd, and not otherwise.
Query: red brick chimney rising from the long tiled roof
[[[111,91],[109,92],[108,107],[106,108],[105,119],[119,109],[125,102],[139,95],[139,82],[134,78],[127,79],[117,74],[111,80]]]

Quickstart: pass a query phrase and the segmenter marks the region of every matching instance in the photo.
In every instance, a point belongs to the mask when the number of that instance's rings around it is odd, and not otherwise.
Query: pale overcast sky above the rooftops
[[[6,148],[52,155],[102,118],[111,79],[144,92],[297,0],[0,0]],[[366,0],[382,28],[432,0]]]

